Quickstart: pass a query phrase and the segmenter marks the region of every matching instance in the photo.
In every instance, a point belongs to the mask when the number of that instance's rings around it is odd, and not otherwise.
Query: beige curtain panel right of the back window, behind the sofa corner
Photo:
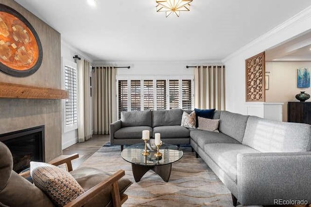
[[[197,66],[194,69],[194,106],[225,110],[225,66]]]

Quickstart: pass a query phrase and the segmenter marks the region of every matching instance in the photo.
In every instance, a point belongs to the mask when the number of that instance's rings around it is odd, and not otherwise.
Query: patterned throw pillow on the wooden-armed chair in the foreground
[[[84,193],[72,175],[57,166],[30,162],[30,172],[35,186],[49,195],[56,206],[65,206]]]

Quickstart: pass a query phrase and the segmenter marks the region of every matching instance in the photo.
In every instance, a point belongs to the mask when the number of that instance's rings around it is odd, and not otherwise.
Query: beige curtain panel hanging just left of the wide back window
[[[113,67],[95,68],[94,74],[94,134],[109,134],[110,124],[116,121],[116,70]]]

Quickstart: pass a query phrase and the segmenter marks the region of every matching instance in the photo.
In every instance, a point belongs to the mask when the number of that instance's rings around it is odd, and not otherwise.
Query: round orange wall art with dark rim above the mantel
[[[0,4],[0,70],[12,76],[34,74],[42,63],[42,45],[29,21]]]

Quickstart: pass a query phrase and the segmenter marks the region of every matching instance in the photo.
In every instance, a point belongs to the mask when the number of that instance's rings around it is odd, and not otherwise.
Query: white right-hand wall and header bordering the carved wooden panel
[[[247,28],[245,28],[246,30]],[[226,110],[246,114],[245,60],[311,30],[311,7],[226,57]]]

